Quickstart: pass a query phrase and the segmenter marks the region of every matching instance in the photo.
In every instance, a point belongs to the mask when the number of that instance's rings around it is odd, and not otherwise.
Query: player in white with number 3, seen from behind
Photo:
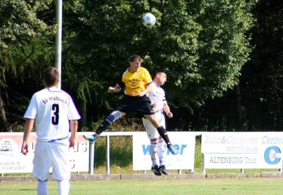
[[[21,153],[28,153],[27,139],[35,121],[37,142],[33,160],[33,175],[38,178],[38,195],[48,195],[47,180],[58,180],[59,195],[70,191],[69,147],[74,147],[80,115],[69,94],[57,89],[59,72],[54,67],[44,71],[46,88],[35,93],[24,114],[26,119]],[[71,136],[69,137],[69,129]]]

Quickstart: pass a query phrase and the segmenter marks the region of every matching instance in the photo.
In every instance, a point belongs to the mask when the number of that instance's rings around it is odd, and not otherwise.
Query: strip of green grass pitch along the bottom
[[[0,195],[36,195],[36,182],[0,183]],[[49,195],[58,195],[49,182]],[[281,195],[282,180],[126,180],[71,183],[70,195]]]

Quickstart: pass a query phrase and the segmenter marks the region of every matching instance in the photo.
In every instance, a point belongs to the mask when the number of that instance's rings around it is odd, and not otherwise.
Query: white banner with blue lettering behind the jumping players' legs
[[[196,141],[194,132],[168,132],[168,136],[178,154],[172,155],[165,145],[166,169],[194,169]],[[157,161],[159,162],[158,158]],[[150,170],[151,164],[150,140],[146,132],[135,132],[133,134],[133,170]]]

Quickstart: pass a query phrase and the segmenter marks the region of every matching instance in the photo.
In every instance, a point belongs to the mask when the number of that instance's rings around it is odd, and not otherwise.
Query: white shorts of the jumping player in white
[[[164,127],[164,129],[166,129],[165,127],[165,117],[163,115],[163,112],[157,112],[155,113],[156,118],[158,120],[158,122],[160,123],[160,125],[162,125]],[[156,139],[158,137],[160,137],[157,129],[151,124],[151,122],[149,120],[147,120],[146,118],[142,118],[142,124],[145,128],[145,131],[147,133],[147,137],[149,139]]]

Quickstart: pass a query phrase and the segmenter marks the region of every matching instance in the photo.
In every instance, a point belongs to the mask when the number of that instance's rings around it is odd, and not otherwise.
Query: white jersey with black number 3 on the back
[[[67,143],[69,120],[81,117],[70,95],[52,87],[33,95],[23,118],[35,119],[37,141]]]

